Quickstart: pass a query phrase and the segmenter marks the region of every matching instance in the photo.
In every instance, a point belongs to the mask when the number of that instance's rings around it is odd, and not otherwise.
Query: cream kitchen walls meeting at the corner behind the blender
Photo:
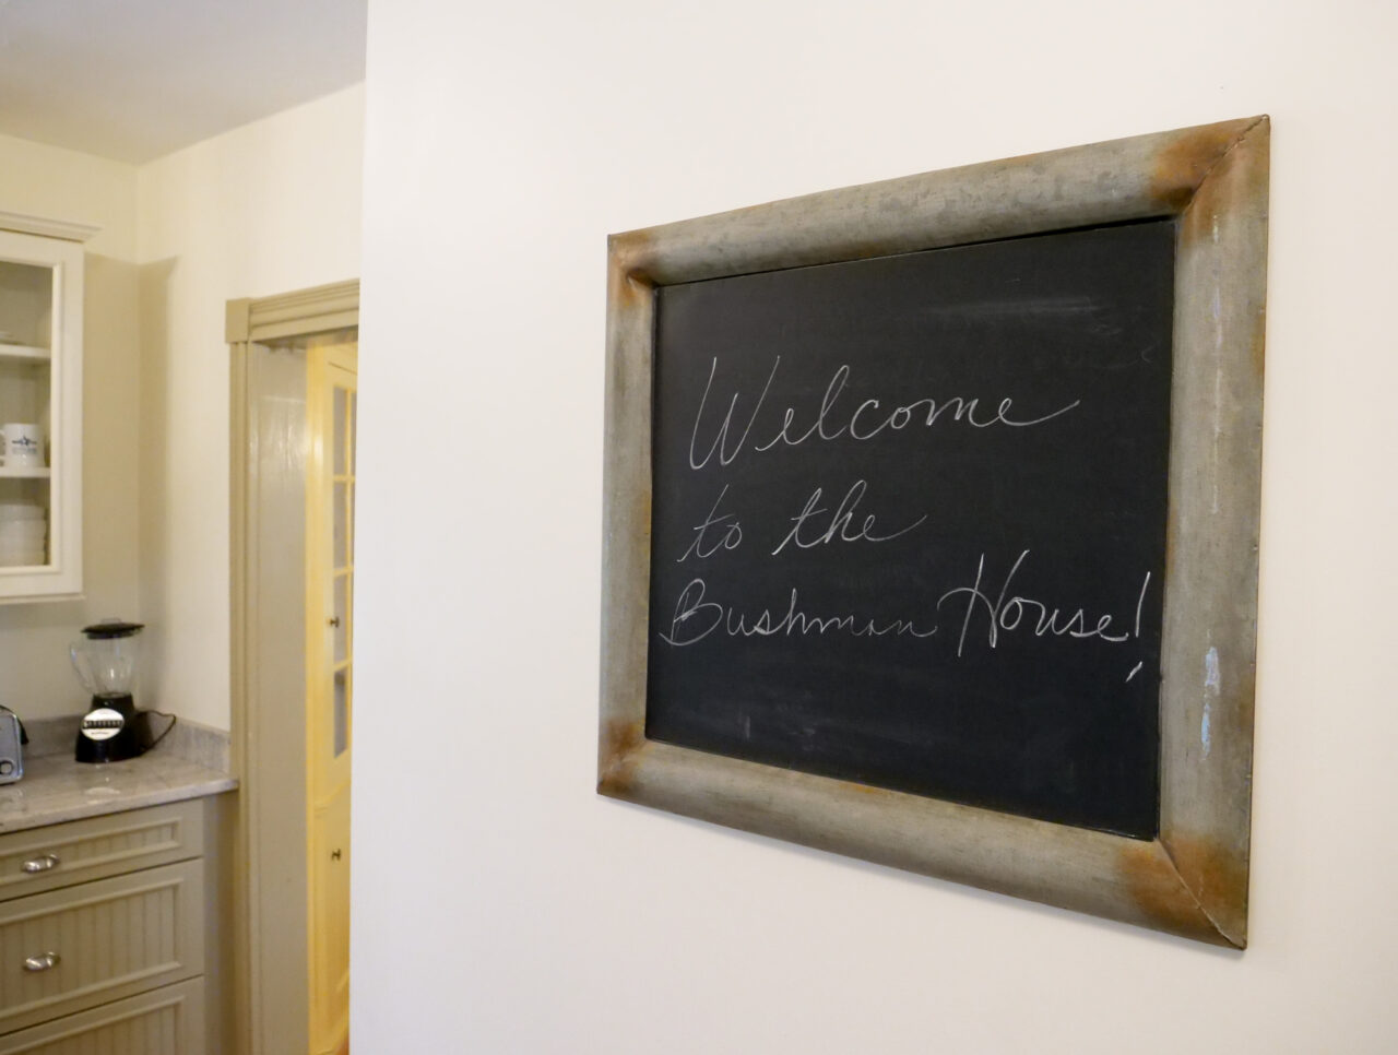
[[[141,619],[141,703],[228,728],[224,306],[359,271],[361,87],[141,168],[0,137],[0,210],[87,246],[80,602],[0,605],[0,703],[80,711],[67,644]]]

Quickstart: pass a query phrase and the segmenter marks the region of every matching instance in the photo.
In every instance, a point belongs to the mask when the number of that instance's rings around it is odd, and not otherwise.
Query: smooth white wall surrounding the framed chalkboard
[[[365,1051],[1398,1042],[1388,4],[372,4]],[[1253,946],[593,794],[604,236],[1274,117]]]

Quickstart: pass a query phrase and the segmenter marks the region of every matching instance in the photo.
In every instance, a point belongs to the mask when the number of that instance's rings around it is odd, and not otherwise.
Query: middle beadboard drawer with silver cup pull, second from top
[[[203,974],[203,883],[186,861],[0,905],[0,1033]]]

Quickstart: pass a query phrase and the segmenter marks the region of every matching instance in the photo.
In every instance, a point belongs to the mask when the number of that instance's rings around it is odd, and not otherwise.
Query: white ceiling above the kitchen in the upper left
[[[141,163],[363,80],[368,0],[0,0],[0,133]]]

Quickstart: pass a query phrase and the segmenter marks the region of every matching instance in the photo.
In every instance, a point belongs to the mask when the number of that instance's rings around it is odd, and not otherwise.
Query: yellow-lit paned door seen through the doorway
[[[310,1051],[350,1030],[350,745],[354,714],[355,342],[309,352],[306,799]]]

